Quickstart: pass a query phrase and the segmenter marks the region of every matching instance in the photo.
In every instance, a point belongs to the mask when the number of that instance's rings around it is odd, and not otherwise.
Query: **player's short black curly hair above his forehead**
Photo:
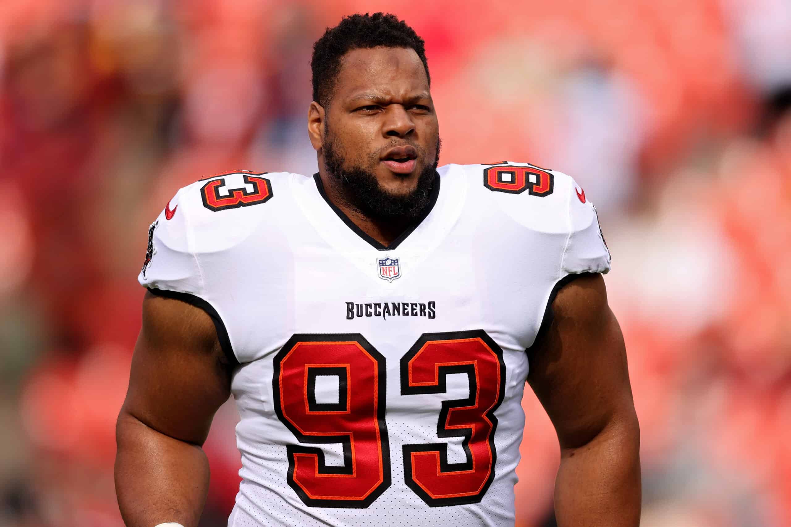
[[[408,47],[420,57],[431,85],[426,47],[422,38],[405,21],[394,14],[365,13],[343,17],[334,28],[313,44],[310,69],[313,73],[313,100],[327,107],[335,80],[341,69],[341,58],[349,51],[369,47]]]

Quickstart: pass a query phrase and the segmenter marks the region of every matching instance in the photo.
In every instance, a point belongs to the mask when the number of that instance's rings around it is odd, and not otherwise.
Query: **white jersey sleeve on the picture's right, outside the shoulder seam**
[[[573,179],[569,194],[569,235],[562,255],[562,275],[607,273],[610,270],[610,250],[604,242],[596,207]]]

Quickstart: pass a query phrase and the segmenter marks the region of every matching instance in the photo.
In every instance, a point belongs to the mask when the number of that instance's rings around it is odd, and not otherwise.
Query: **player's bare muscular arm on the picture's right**
[[[560,442],[558,525],[636,527],[640,430],[604,279],[578,277],[561,288],[552,308],[553,322],[531,350],[528,382]]]

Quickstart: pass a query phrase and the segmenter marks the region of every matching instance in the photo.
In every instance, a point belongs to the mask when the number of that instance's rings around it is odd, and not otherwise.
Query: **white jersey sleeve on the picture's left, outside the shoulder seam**
[[[153,292],[186,293],[202,298],[202,277],[195,252],[191,249],[187,214],[177,210],[183,192],[184,189],[179,190],[149,226],[146,259],[138,282],[149,290],[156,290]]]

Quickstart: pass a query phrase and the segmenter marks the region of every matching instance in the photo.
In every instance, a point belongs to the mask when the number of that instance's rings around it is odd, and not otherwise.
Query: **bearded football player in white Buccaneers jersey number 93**
[[[229,395],[230,527],[513,525],[526,382],[558,435],[558,525],[638,525],[638,421],[585,192],[529,163],[437,168],[423,41],[392,15],[327,29],[312,73],[316,175],[210,176],[149,229],[117,427],[127,525],[198,524]]]

